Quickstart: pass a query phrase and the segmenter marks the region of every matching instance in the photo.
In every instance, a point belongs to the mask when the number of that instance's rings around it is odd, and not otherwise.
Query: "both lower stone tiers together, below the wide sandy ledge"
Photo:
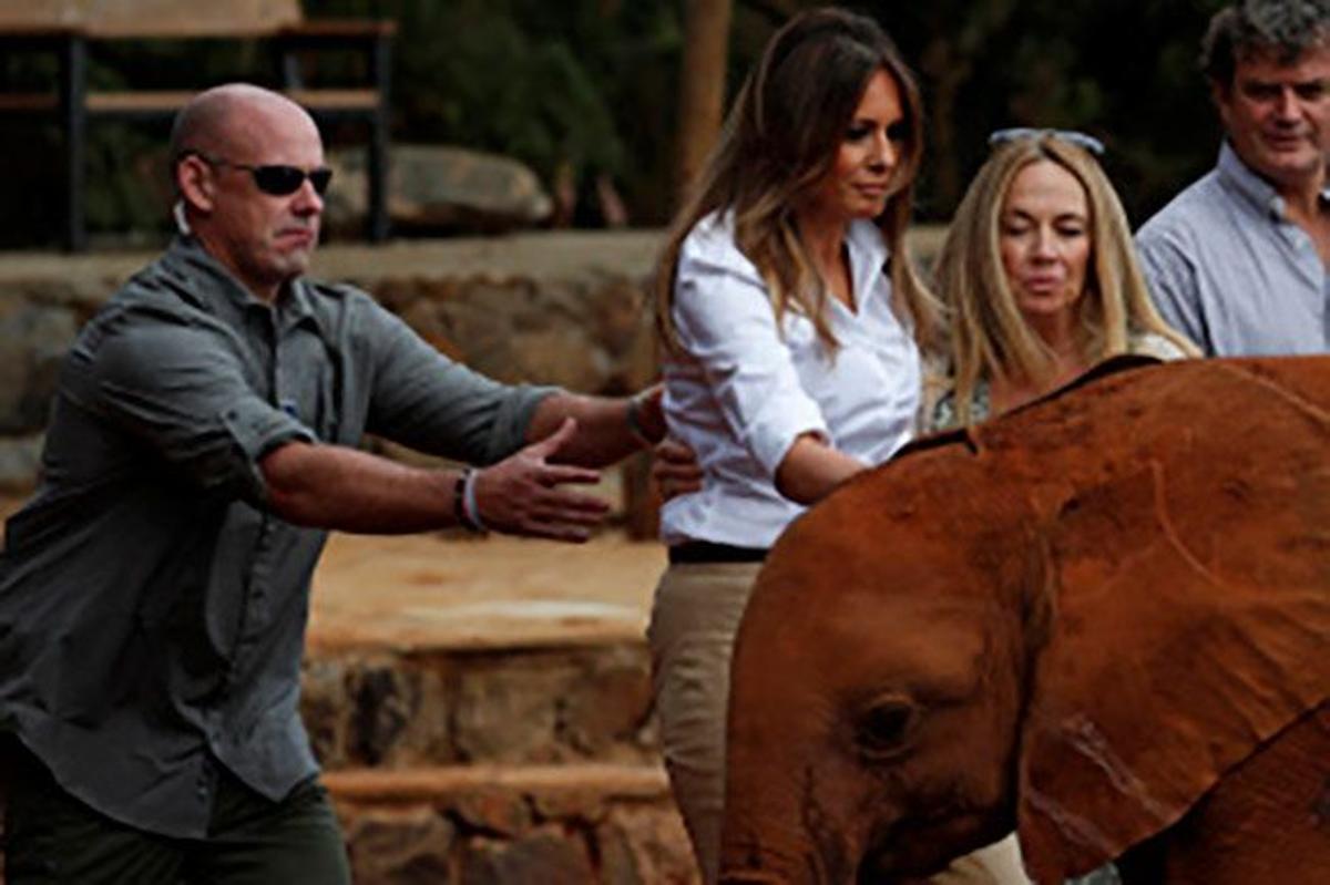
[[[641,642],[322,650],[305,676],[356,882],[696,881]]]

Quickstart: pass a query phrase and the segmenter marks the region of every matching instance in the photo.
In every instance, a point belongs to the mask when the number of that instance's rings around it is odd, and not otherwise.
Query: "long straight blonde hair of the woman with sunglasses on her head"
[[[1091,260],[1080,299],[1083,353],[1091,363],[1127,353],[1132,335],[1161,335],[1189,356],[1196,347],[1170,328],[1150,300],[1132,245],[1127,214],[1099,162],[1083,148],[1052,133],[999,145],[956,209],[935,264],[938,296],[950,320],[948,357],[956,419],[971,423],[979,379],[1040,380],[1053,368],[1053,352],[1025,322],[1007,282],[1000,251],[1001,210],[1020,170],[1047,159],[1085,190]]]

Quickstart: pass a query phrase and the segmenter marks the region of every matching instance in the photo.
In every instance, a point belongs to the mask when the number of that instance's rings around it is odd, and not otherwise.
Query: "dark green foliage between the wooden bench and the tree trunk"
[[[402,141],[508,154],[547,182],[564,170],[620,183],[668,170],[668,151],[646,144],[665,133],[645,117],[674,102],[676,4],[327,0],[306,9],[398,21],[394,133]]]

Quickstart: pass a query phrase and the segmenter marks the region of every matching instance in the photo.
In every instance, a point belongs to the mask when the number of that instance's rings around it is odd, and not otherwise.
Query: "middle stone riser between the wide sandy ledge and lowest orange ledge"
[[[658,760],[640,640],[305,663],[301,716],[325,769]]]

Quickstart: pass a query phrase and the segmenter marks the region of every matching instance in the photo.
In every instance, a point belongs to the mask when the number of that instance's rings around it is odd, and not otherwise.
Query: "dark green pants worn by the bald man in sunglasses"
[[[9,753],[8,885],[350,885],[327,792],[311,779],[270,801],[221,771],[206,838],[126,827],[69,796],[27,751]]]

